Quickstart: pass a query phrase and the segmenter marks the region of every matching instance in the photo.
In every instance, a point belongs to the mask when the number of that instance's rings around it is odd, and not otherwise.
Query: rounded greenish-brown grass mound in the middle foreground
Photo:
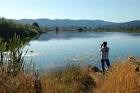
[[[95,85],[87,69],[68,66],[42,79],[43,93],[87,93]]]

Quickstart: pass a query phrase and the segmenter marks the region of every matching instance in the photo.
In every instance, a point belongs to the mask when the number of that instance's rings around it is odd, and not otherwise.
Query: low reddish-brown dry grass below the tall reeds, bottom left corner
[[[0,69],[0,93],[35,93],[34,76],[19,72],[17,76],[9,76]]]

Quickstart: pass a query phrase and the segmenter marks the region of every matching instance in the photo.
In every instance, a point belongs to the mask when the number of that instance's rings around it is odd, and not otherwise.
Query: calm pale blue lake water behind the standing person
[[[100,67],[100,43],[107,41],[110,60],[140,56],[140,34],[122,32],[50,32],[29,42],[27,60],[40,68],[63,66],[70,62]]]

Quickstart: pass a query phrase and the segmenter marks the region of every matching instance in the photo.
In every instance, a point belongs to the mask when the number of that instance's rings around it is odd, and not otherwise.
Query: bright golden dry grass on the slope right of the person
[[[140,93],[140,74],[135,61],[114,64],[97,82],[93,93]]]

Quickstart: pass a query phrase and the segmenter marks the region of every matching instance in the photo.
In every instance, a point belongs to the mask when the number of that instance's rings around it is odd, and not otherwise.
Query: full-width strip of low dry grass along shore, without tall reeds
[[[0,67],[0,93],[140,93],[139,65],[136,60],[116,63],[105,75],[68,65],[39,78],[23,71],[11,76]]]

